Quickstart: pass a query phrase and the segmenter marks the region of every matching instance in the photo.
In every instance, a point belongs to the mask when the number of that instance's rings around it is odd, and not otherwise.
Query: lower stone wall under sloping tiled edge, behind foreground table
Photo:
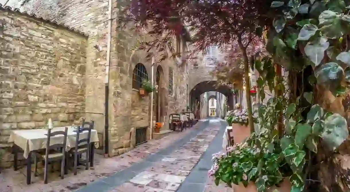
[[[0,10],[1,138],[10,130],[77,123],[85,111],[86,38]]]

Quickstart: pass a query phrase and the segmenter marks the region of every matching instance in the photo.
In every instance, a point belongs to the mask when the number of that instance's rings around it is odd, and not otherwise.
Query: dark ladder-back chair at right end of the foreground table
[[[88,127],[85,127],[86,125],[88,125]],[[76,130],[77,136],[75,140],[75,148],[70,150],[70,154],[72,154],[72,157],[74,158],[74,167],[73,167],[74,175],[77,175],[77,168],[80,163],[84,163],[86,170],[89,169],[89,160],[91,155],[90,154],[91,152],[90,137],[91,137],[91,130],[93,130],[93,125],[94,125],[94,121],[91,121],[90,123],[90,122],[85,122],[85,119],[83,119],[82,126],[78,127],[78,129]],[[88,131],[87,138],[80,139],[79,135],[84,131]],[[83,153],[86,153],[86,158],[82,162],[79,159]]]

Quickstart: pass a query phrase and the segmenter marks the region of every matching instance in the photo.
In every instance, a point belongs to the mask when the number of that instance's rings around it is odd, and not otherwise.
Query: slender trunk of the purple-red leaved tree
[[[252,112],[252,101],[250,97],[250,78],[249,78],[249,59],[245,49],[243,50],[243,59],[244,59],[244,80],[245,80],[245,96],[247,100],[247,110],[248,110],[248,123],[250,127],[250,132],[254,132],[254,119]]]

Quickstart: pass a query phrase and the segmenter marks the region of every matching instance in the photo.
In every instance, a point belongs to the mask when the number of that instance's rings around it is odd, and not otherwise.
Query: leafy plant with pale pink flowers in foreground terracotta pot
[[[258,191],[265,191],[271,186],[278,185],[283,177],[290,176],[287,163],[280,156],[280,150],[271,148],[260,149],[257,145],[251,146],[250,142],[243,145],[236,144],[228,147],[228,153],[213,155],[214,165],[209,170],[209,176],[215,177],[215,184],[220,180],[228,186],[242,183],[247,186],[249,182],[255,183]],[[255,138],[256,139],[256,138]]]

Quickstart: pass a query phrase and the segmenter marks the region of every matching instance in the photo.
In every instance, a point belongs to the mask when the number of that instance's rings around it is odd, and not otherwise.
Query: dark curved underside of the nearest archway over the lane
[[[190,91],[190,95],[193,98],[198,98],[205,92],[217,91],[224,94],[226,97],[232,96],[232,90],[229,86],[218,85],[217,81],[203,81],[198,84]]]

